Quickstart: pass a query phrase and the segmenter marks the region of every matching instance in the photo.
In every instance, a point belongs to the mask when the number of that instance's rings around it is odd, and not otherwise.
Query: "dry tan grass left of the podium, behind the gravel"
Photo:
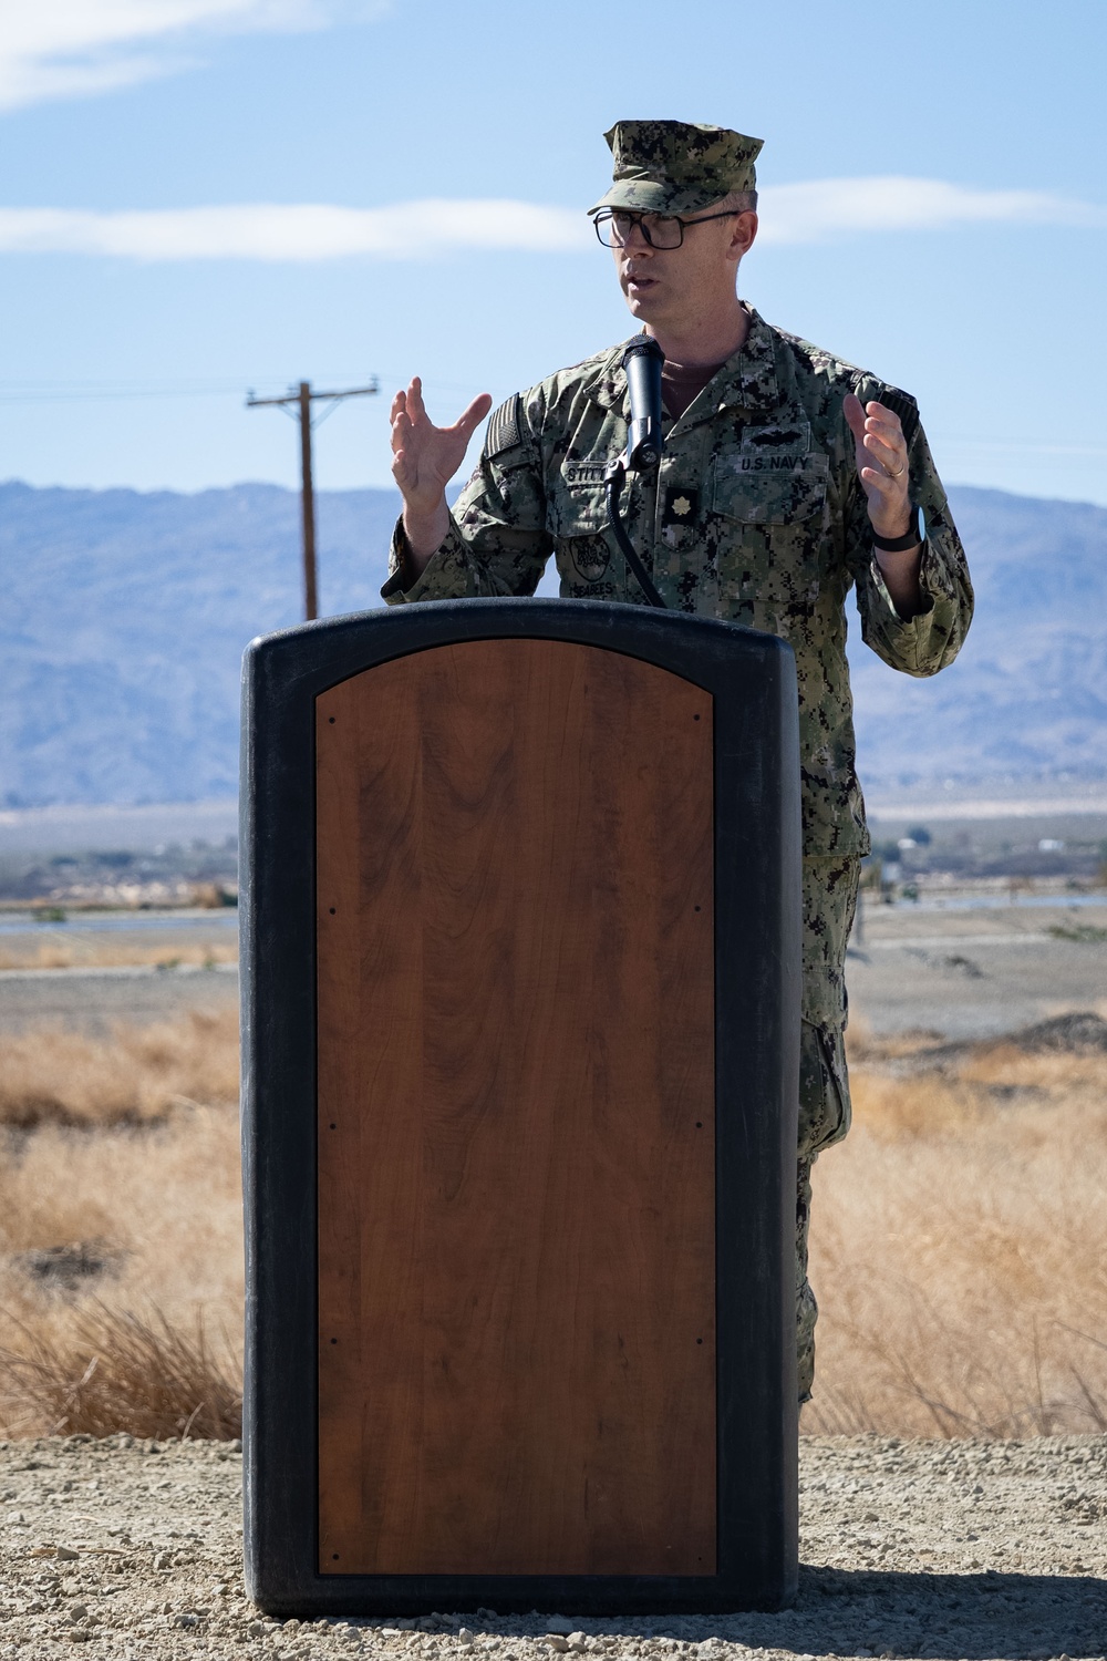
[[[58,1096],[56,1043],[58,1035],[40,1035],[35,1100]],[[191,1090],[209,1078],[226,1095],[234,1050],[227,1020],[126,1031],[116,1068],[131,1085],[139,1073],[139,1100],[161,1100],[163,1123],[123,1128],[118,1098],[105,1111],[86,1085],[98,1113],[83,1124],[95,1133],[41,1118],[30,1134],[8,1133],[0,1164],[5,1433],[239,1435],[237,1113],[181,1096],[171,1105],[166,1095],[166,1080],[183,1078]],[[86,1056],[88,1046],[76,1053]],[[93,1053],[100,1088],[111,1048]],[[28,1051],[20,1055],[28,1066]]]

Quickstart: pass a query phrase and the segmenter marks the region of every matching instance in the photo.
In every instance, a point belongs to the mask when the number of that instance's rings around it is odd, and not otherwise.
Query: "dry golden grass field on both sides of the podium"
[[[815,1173],[803,1428],[1107,1430],[1107,1055],[939,1068],[919,1043],[855,1033],[855,1129]],[[2,1113],[33,1126],[0,1164],[7,1433],[237,1433],[236,1066],[232,1015],[0,1041]]]

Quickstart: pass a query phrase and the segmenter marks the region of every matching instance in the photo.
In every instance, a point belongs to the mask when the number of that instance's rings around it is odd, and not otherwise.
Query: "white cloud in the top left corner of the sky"
[[[385,8],[387,0],[8,0],[0,110],[173,73],[212,35],[325,28]]]

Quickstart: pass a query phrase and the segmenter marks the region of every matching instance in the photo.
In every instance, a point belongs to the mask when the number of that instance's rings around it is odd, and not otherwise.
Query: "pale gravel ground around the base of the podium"
[[[1107,1437],[805,1437],[800,1458],[800,1600],[782,1614],[300,1623],[242,1593],[237,1443],[0,1443],[0,1656],[1104,1656]]]

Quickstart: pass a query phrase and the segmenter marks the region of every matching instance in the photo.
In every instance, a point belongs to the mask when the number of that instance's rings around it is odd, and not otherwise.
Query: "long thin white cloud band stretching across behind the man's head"
[[[1036,191],[974,191],[943,179],[817,179],[762,193],[760,234],[778,246],[988,223],[1102,228],[1107,209]],[[463,249],[573,252],[589,246],[589,223],[578,209],[488,198],[428,198],[392,208],[246,203],[141,213],[0,209],[0,252],[25,254],[310,262],[350,256],[433,259]]]

